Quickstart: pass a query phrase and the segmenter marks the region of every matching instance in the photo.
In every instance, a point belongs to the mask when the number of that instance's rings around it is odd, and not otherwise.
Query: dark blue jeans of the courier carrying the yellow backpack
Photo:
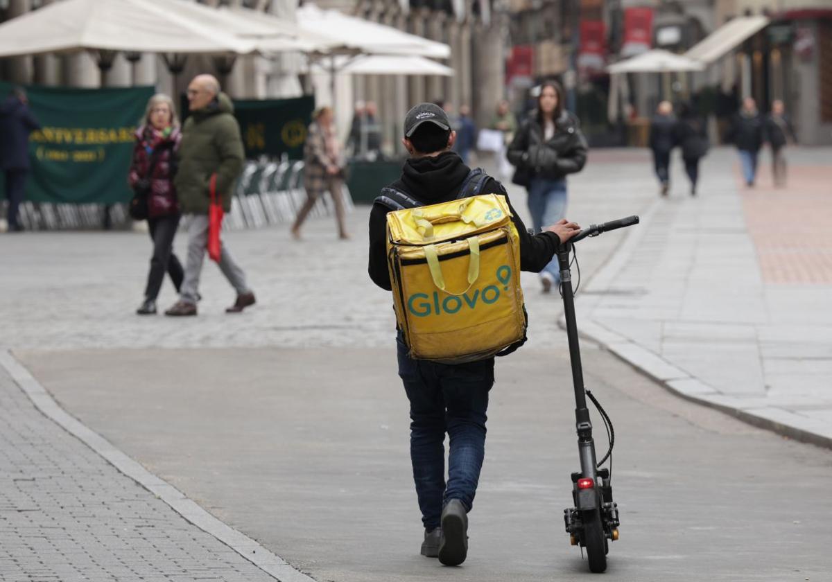
[[[410,461],[422,523],[439,526],[442,508],[458,499],[470,511],[485,456],[488,391],[494,384],[494,358],[441,364],[408,357],[401,339],[399,376],[410,401]],[[445,433],[450,437],[445,483]]]

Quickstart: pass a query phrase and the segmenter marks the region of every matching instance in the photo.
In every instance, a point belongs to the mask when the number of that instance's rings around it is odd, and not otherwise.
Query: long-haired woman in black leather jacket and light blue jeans
[[[523,121],[511,145],[508,161],[516,166],[512,181],[528,190],[528,210],[535,232],[562,219],[567,208],[567,175],[587,163],[587,140],[577,117],[563,106],[563,90],[544,81],[537,110]],[[540,273],[543,293],[560,284],[557,259]]]

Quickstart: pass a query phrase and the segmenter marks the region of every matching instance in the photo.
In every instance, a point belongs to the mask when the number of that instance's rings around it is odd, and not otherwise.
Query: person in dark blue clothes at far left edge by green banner
[[[29,110],[26,91],[21,87],[13,88],[6,101],[0,103],[0,170],[6,174],[6,220],[10,233],[23,229],[17,219],[17,210],[26,197],[26,179],[32,167],[29,134],[40,128]]]

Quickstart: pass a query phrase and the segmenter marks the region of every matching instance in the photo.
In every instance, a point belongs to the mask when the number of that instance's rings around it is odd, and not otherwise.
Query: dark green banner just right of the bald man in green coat
[[[188,101],[182,99],[187,116]],[[314,96],[294,99],[234,100],[234,116],[240,122],[245,156],[260,155],[302,160],[306,128],[312,121]]]

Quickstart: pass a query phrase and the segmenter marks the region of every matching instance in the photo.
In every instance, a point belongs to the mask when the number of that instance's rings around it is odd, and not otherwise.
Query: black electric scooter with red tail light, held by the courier
[[[589,570],[600,573],[607,570],[607,552],[609,542],[618,539],[618,506],[612,501],[612,446],[615,444],[615,432],[607,412],[598,403],[592,392],[583,385],[581,366],[581,348],[578,346],[577,322],[575,319],[575,295],[572,289],[570,271],[570,254],[574,255],[574,244],[589,236],[597,236],[610,230],[621,229],[638,224],[637,216],[613,220],[604,224],[592,224],[582,229],[562,244],[557,253],[561,270],[561,293],[563,312],[567,323],[569,342],[569,359],[572,363],[572,384],[575,388],[575,419],[577,422],[577,449],[581,461],[581,471],[572,473],[572,502],[574,507],[563,510],[563,520],[572,545],[579,545],[587,550]],[[577,260],[577,256],[576,259]],[[580,275],[580,267],[578,274]],[[609,450],[602,460],[596,461],[595,441],[592,440],[592,422],[587,409],[587,396],[598,409],[604,426],[607,428]],[[603,467],[607,459],[608,467]]]

